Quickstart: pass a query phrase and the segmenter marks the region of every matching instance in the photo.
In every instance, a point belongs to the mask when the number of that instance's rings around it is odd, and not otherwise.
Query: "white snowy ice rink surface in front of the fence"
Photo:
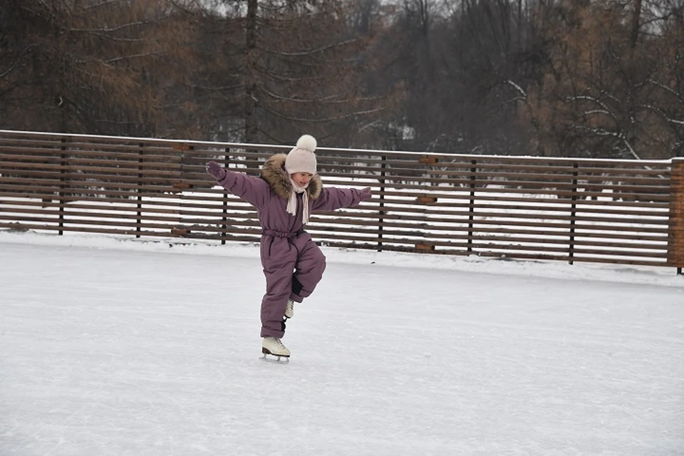
[[[0,232],[0,455],[684,455],[674,269]]]

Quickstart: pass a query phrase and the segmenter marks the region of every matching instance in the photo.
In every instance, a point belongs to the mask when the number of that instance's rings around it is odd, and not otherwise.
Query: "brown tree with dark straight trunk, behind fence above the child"
[[[199,92],[229,113],[214,125],[214,136],[291,143],[306,130],[351,145],[364,126],[387,115],[393,88],[370,93],[365,78],[376,24],[371,15],[363,29],[347,19],[365,5],[249,0],[242,9],[233,1],[222,6],[222,14],[204,10],[202,23],[224,24],[232,43],[214,42],[213,64],[192,76],[204,78]]]

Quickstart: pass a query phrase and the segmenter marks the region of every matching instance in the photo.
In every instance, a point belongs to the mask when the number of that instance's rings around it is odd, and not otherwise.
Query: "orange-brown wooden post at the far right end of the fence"
[[[670,223],[668,227],[668,264],[682,274],[684,266],[684,159],[672,159],[670,177]]]

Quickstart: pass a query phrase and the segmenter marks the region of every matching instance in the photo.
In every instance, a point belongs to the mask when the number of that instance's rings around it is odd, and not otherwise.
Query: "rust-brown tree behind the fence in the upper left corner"
[[[156,135],[160,92],[182,76],[177,11],[162,0],[11,0],[5,126]]]

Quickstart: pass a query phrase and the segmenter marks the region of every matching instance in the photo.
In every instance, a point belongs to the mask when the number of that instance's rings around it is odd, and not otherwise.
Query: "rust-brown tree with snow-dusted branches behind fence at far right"
[[[544,153],[638,159],[676,147],[671,138],[680,135],[681,86],[675,73],[682,68],[668,55],[682,41],[671,33],[676,27],[652,20],[643,26],[643,11],[653,9],[648,1],[556,6],[559,19],[546,28],[545,76],[524,104]]]

